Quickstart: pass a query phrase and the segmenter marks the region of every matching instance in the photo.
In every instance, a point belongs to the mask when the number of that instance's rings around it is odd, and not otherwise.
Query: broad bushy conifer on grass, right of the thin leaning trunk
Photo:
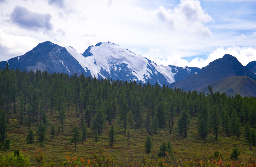
[[[190,123],[190,115],[189,112],[187,110],[182,110],[181,111],[181,115],[178,119],[178,132],[179,134],[183,135],[185,137],[187,137],[187,132],[188,132],[188,125]]]

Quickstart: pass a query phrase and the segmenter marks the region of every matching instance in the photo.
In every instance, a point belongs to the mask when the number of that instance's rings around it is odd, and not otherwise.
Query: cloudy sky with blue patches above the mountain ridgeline
[[[83,53],[113,42],[157,64],[256,60],[256,0],[0,0],[0,61],[51,41]]]

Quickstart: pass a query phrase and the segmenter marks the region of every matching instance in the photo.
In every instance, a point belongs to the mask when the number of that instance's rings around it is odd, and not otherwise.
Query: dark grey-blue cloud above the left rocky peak
[[[35,13],[22,6],[16,6],[14,8],[10,20],[22,28],[33,31],[40,29],[52,30],[53,27],[50,23],[50,14]]]

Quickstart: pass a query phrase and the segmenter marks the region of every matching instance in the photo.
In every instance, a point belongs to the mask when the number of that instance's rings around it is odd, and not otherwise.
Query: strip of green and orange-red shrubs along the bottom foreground
[[[102,153],[99,146],[97,153],[93,153],[90,157],[69,157],[66,156],[65,161],[56,162],[55,157],[51,157],[50,160],[44,159],[42,150],[38,150],[35,154],[35,161],[30,161],[29,158],[24,157],[22,153],[14,152],[7,155],[0,154],[0,166],[256,166],[255,157],[238,158],[239,150],[235,148],[230,154],[230,159],[222,160],[222,156],[216,151],[213,156],[206,158],[204,156],[196,156],[190,160],[177,158],[166,153],[165,157],[151,159],[146,155],[139,157],[138,159],[131,161],[116,161],[113,157],[106,156]],[[18,153],[18,154],[17,154]]]

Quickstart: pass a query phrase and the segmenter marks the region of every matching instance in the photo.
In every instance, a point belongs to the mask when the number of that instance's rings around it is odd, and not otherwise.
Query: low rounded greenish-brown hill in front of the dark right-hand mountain
[[[222,78],[213,83],[210,83],[214,92],[225,92],[226,95],[256,97],[256,81],[247,76],[230,76]],[[208,92],[208,86],[197,90],[198,92]]]

